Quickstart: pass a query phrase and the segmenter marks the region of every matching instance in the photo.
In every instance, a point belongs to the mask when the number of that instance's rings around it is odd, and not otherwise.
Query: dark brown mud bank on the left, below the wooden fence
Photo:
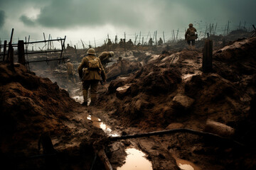
[[[78,106],[67,91],[50,79],[36,77],[21,64],[14,69],[1,64],[0,79],[2,145],[9,142],[8,137],[15,136],[14,142],[18,142],[24,136],[38,138],[45,131],[63,133],[59,119]]]

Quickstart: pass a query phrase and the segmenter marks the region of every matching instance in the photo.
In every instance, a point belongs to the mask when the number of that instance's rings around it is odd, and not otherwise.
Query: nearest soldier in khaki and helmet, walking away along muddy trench
[[[87,55],[87,57],[82,59],[78,67],[78,73],[79,77],[82,79],[82,95],[84,98],[82,105],[87,106],[87,94],[90,87],[90,106],[93,106],[97,98],[97,85],[100,81],[100,76],[102,77],[102,81],[105,82],[106,74],[100,62],[100,58],[95,56],[96,53],[93,48],[87,50]]]

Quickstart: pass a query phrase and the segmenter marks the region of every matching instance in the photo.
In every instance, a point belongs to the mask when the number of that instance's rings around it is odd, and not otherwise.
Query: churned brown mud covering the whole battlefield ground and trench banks
[[[90,169],[95,149],[103,148],[113,169],[122,169],[129,162],[126,150],[132,148],[144,153],[151,169],[255,169],[256,38],[236,40],[241,37],[235,33],[211,38],[213,72],[207,74],[201,71],[203,40],[194,50],[184,42],[126,53],[113,46],[116,55],[107,73],[116,69],[118,74],[99,85],[96,107],[80,105],[78,73],[75,81],[68,81],[64,64],[41,63],[29,71],[21,64],[11,68],[1,63],[4,165]],[[99,47],[97,53],[103,50],[110,49]],[[65,53],[75,69],[84,54],[85,50]],[[120,72],[123,64],[126,72]],[[188,133],[109,140],[112,135],[176,128],[203,131],[207,120],[232,128],[231,139],[244,146]],[[44,155],[38,141],[46,132],[55,152]],[[93,169],[105,169],[99,157]]]

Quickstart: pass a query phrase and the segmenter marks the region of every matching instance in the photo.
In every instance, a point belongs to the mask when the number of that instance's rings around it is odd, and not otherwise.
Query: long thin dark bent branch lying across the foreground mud
[[[134,135],[124,135],[124,136],[119,136],[119,137],[110,137],[110,140],[112,141],[117,141],[117,140],[127,140],[127,139],[133,139],[133,138],[138,138],[138,137],[150,137],[150,136],[156,136],[156,135],[166,135],[166,134],[174,134],[177,132],[187,132],[191,133],[193,135],[201,135],[204,137],[215,137],[223,141],[228,141],[228,142],[233,142],[236,145],[240,145],[244,147],[244,145],[240,144],[239,142],[236,142],[233,139],[227,138],[227,137],[221,137],[220,135],[216,135],[213,133],[209,132],[203,132],[203,131],[198,131],[198,130],[191,130],[191,129],[185,129],[185,128],[180,128],[180,129],[173,129],[173,130],[162,130],[162,131],[154,131],[154,132],[146,132],[146,133],[137,133]]]

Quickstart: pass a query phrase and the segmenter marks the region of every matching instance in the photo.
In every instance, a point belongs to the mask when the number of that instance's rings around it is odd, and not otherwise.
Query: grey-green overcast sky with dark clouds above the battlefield
[[[256,0],[0,0],[0,38],[9,40],[14,28],[14,41],[53,39],[67,35],[73,44],[82,39],[94,45],[107,38],[114,39],[135,33],[146,36],[155,30],[159,37],[171,30],[183,34],[188,23],[205,30],[206,23],[224,28],[256,24]],[[182,35],[183,36],[183,35]],[[2,42],[3,43],[3,42]]]

